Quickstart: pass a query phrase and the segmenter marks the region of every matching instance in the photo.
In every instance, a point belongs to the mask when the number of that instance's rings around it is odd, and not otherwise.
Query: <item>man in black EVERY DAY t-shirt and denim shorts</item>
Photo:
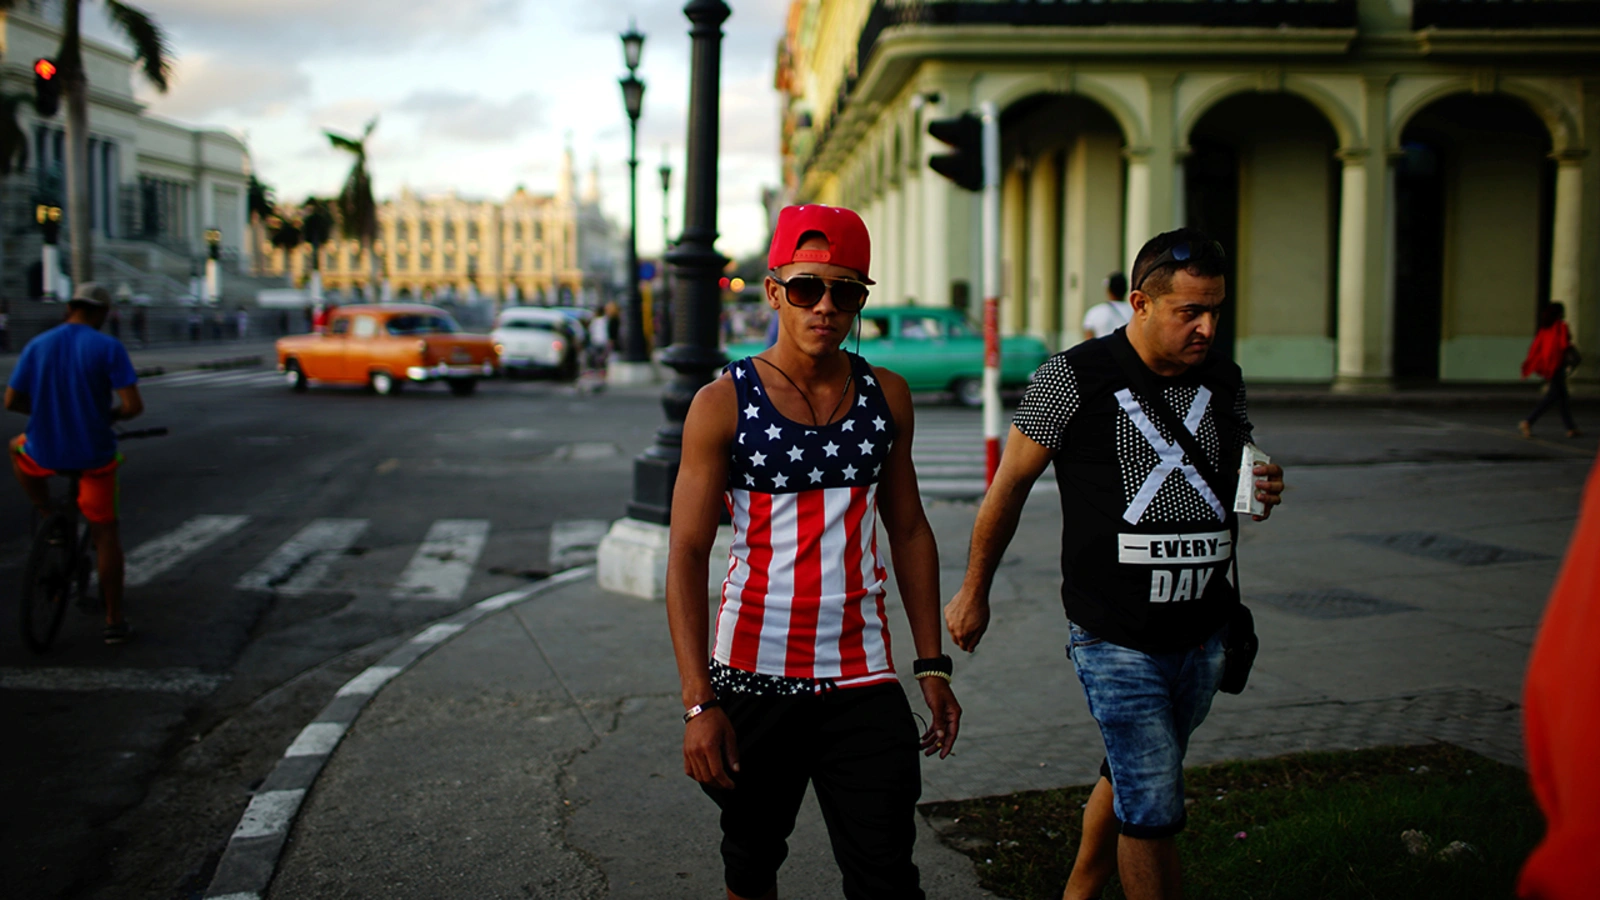
[[[1067,653],[1106,743],[1064,900],[1099,897],[1115,870],[1130,900],[1179,895],[1182,757],[1222,677],[1238,605],[1232,490],[1197,469],[1163,420],[1181,423],[1232,487],[1251,440],[1238,367],[1211,354],[1226,296],[1222,247],[1195,229],[1150,239],[1133,266],[1133,320],[1038,367],[973,525],[950,637],[974,650],[989,588],[1034,480],[1061,488]],[[1154,404],[1165,404],[1160,410]],[[1219,476],[1216,474],[1219,472]],[[1283,471],[1258,464],[1266,519]]]

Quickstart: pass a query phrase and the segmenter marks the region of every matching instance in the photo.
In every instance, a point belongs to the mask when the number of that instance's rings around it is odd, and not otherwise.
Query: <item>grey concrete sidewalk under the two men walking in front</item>
[[[1242,540],[1261,658],[1242,697],[1218,698],[1190,762],[1446,740],[1522,764],[1522,673],[1589,463],[1296,471],[1290,501]],[[930,506],[946,594],[973,514]],[[989,636],[957,660],[963,730],[950,759],[923,762],[925,801],[1096,775],[1102,748],[1062,652],[1059,528],[1054,496],[1037,496]],[[677,693],[659,604],[582,581],[488,615],[347,732],[269,895],[717,897],[717,814],[682,773]],[[920,830],[928,895],[984,895],[966,857]],[[810,799],[781,890],[838,895]]]

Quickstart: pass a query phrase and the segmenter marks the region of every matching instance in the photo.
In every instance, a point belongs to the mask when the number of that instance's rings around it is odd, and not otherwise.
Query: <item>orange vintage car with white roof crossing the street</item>
[[[294,391],[322,381],[392,394],[408,381],[443,381],[466,397],[499,372],[488,335],[464,335],[443,309],[414,303],[341,306],[320,335],[278,338],[277,348]]]

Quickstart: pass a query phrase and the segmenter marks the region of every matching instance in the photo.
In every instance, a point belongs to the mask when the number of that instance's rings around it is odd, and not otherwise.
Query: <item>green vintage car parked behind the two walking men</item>
[[[845,341],[856,349],[854,335]],[[730,344],[730,359],[766,349],[760,343]],[[966,407],[984,404],[984,336],[960,309],[934,306],[867,306],[861,311],[861,356],[901,373],[915,392],[949,391]],[[1022,388],[1050,348],[1038,338],[1000,340],[1000,386]]]

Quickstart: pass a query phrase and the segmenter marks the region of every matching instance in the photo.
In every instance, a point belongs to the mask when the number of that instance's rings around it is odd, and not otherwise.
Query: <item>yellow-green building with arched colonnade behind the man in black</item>
[[[786,187],[862,211],[875,296],[976,304],[978,195],[926,125],[994,102],[1006,331],[1077,343],[1187,224],[1253,380],[1515,381],[1544,303],[1600,346],[1597,50],[1595,0],[797,0]]]

